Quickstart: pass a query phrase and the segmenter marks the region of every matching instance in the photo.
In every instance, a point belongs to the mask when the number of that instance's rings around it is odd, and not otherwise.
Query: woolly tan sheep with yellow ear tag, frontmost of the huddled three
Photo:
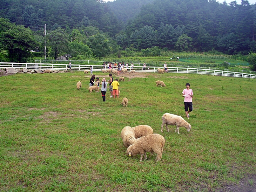
[[[147,159],[147,152],[156,153],[156,161],[162,159],[162,153],[164,148],[165,139],[159,134],[149,134],[144,137],[140,137],[127,148],[126,154],[129,156],[135,156],[140,154],[140,161],[142,161],[143,154],[144,160]]]

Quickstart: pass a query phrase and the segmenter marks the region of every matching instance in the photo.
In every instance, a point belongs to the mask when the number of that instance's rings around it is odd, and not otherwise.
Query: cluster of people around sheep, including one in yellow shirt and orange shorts
[[[109,84],[109,91],[110,91],[110,98],[114,96],[119,98],[119,91],[118,91],[118,86],[120,85],[118,82],[118,79],[115,79],[112,77],[112,74],[110,73],[108,75],[110,77],[110,79],[108,81],[106,81],[106,78],[103,78],[102,81],[100,82],[99,77],[96,78],[95,81],[95,75],[92,75],[92,77],[90,78],[90,82],[89,82],[89,87],[93,86],[94,84],[97,84],[98,87],[98,91],[100,90],[100,85],[101,85],[101,95],[102,95],[102,99],[103,102],[106,101],[106,92],[107,92],[107,84]]]

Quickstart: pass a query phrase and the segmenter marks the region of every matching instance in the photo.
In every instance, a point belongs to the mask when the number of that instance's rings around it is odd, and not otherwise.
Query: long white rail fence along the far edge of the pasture
[[[101,69],[108,69],[107,66],[103,65],[91,65],[93,67],[93,71],[101,71]],[[27,69],[52,69],[52,70],[66,70],[68,69],[68,64],[54,64],[54,63],[6,63],[0,62],[0,68],[27,68]],[[125,67],[126,68],[126,67]],[[148,72],[148,73],[157,73],[157,69],[160,67],[142,67],[142,66],[134,66],[134,70],[136,72]],[[130,71],[130,66],[128,71]],[[163,69],[163,68],[161,68]],[[72,64],[73,71],[82,71],[82,70],[90,70],[90,65],[80,65],[80,64]],[[221,71],[214,69],[197,69],[197,68],[185,68],[185,67],[168,67],[168,73],[187,73],[187,74],[206,74],[206,75],[218,75],[218,76],[227,76],[227,77],[241,77],[241,78],[256,78],[254,74],[248,73],[240,73],[234,71]]]

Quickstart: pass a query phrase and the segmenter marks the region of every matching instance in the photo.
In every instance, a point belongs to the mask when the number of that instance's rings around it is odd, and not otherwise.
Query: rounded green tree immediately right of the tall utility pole
[[[49,55],[55,60],[62,54],[68,52],[68,34],[64,29],[57,28],[46,35]]]

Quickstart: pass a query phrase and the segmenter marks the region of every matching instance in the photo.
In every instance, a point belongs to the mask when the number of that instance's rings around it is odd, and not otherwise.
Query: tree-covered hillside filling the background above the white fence
[[[247,0],[0,0],[0,17],[5,18],[0,59],[13,61],[16,44],[11,40],[20,40],[16,28],[33,32],[30,47],[19,47],[20,51],[43,53],[46,40],[47,56],[55,59],[63,54],[88,59],[134,51],[158,55],[161,50],[247,55],[256,52],[255,13],[256,5]]]

